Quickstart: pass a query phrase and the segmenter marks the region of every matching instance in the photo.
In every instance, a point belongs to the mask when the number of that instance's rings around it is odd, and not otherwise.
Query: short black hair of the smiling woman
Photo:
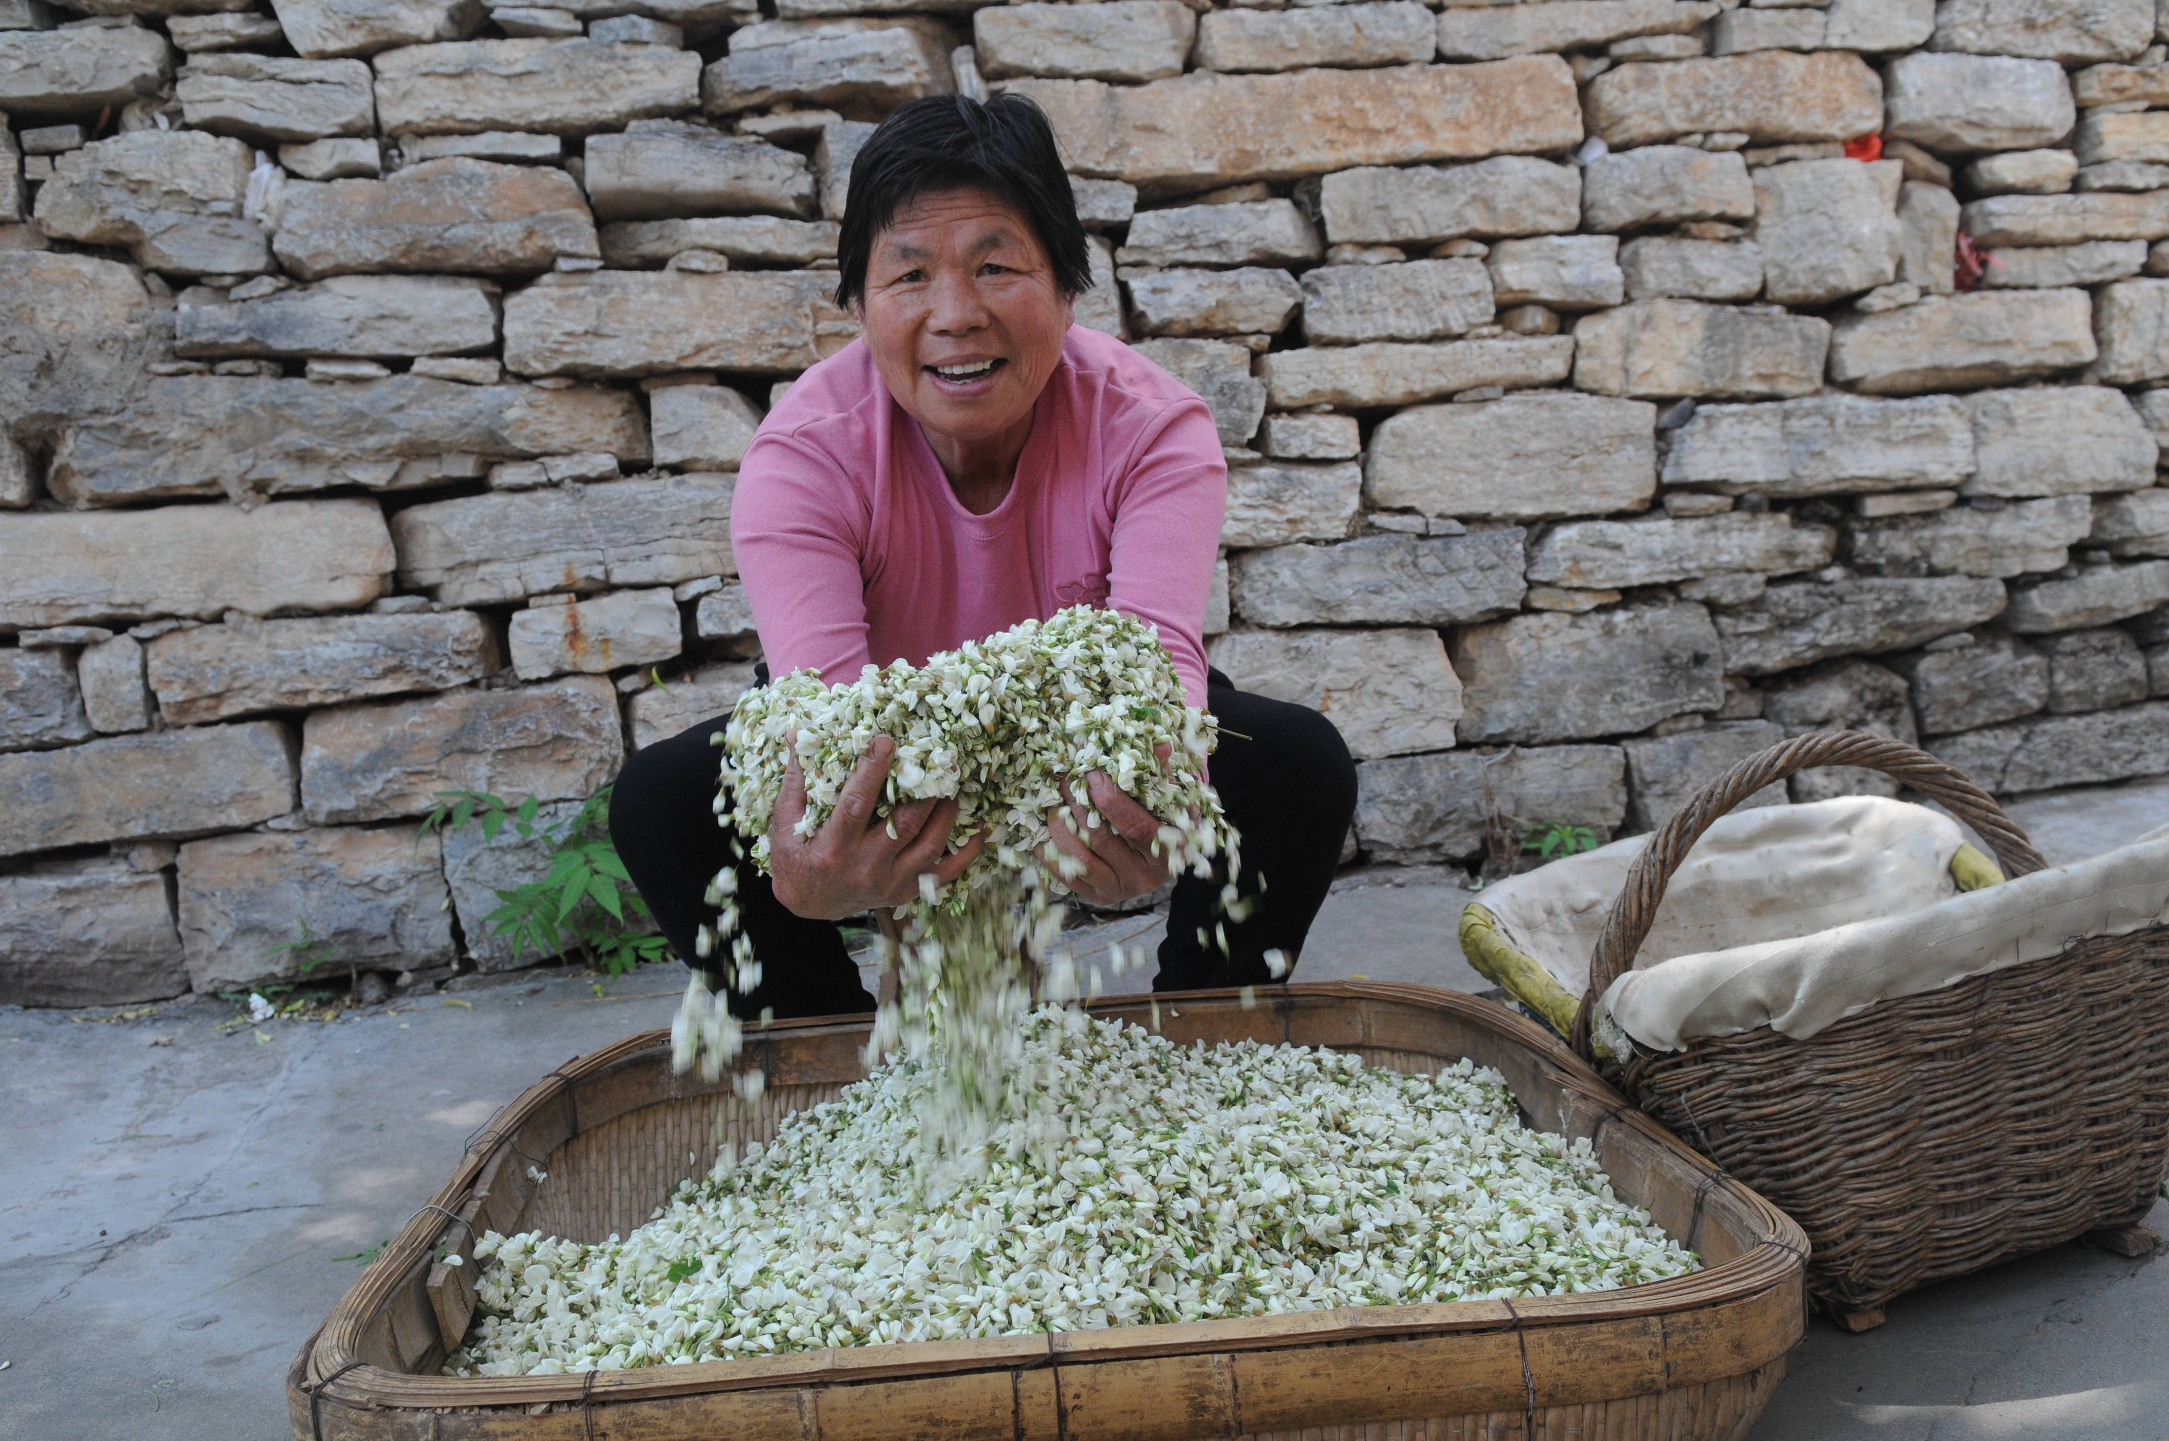
[[[1091,289],[1091,247],[1045,111],[1026,95],[926,95],[881,122],[850,163],[835,304],[850,310],[865,297],[874,239],[898,211],[920,195],[961,189],[987,191],[1024,215],[1065,299]]]

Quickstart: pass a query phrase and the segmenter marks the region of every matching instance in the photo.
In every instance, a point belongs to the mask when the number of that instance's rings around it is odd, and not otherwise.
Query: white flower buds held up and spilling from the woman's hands
[[[1054,898],[1063,872],[1050,875],[1045,857],[1048,814],[1065,805],[1063,781],[1087,803],[1084,825],[1104,827],[1082,781],[1091,770],[1106,773],[1160,818],[1156,844],[1176,875],[1208,877],[1215,857],[1225,855],[1223,905],[1238,905],[1236,838],[1204,779],[1215,734],[1210,716],[1184,705],[1182,679],[1154,627],[1091,605],[941,651],[924,666],[868,666],[846,686],[798,671],[737,703],[722,734],[716,814],[753,838],[753,862],[763,870],[794,742],[807,788],[800,836],[829,820],[876,736],[896,742],[878,816],[907,801],[954,796],[950,849],[974,831],[987,833],[985,853],[946,894],[922,877],[920,898],[898,911],[898,998],[883,1007],[870,1042],[870,1063],[904,1055],[939,1066],[941,1085],[928,1105],[944,1124],[926,1126],[920,1183],[937,1172],[948,1178],[952,1163],[974,1170],[991,1122],[1019,1113],[1035,1094],[1019,1024],[1032,1005],[1032,968],[1061,933]],[[729,942],[720,970],[733,990],[750,992],[759,961],[746,938],[733,935],[735,885],[735,870],[716,877],[709,903],[720,916],[698,946],[707,961]],[[1074,983],[1056,974],[1039,990],[1065,998]],[[709,1079],[744,1044],[740,1022],[698,974],[672,1037],[679,1070],[698,1063]],[[757,1096],[761,1076],[742,1072],[737,1085],[742,1096]],[[1043,1118],[1041,1142],[1058,1131],[1058,1118]]]

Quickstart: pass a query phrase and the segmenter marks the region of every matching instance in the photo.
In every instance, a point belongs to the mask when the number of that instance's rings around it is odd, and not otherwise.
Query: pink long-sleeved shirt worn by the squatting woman
[[[1095,603],[1160,627],[1206,703],[1204,612],[1228,467],[1195,393],[1071,326],[1009,495],[972,514],[863,341],[792,384],[746,449],[731,549],[772,675],[868,664]]]

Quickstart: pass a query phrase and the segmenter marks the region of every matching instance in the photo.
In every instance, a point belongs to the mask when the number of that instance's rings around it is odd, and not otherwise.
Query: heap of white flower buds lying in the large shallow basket
[[[1523,1126],[1468,1061],[1399,1074],[1323,1048],[1186,1048],[1056,1007],[1026,1018],[1022,1048],[1069,1124],[1052,1163],[998,1144],[944,1204],[900,1207],[937,1079],[885,1066],[683,1181],[623,1241],[486,1235],[479,1322],[445,1369],[1557,1296],[1698,1267],[1614,1198],[1588,1142]]]

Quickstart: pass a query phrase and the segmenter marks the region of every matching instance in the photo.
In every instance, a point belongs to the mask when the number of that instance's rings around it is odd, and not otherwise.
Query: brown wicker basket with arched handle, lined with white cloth
[[[1885,770],[1972,825],[2006,875],[2045,866],[1985,790],[1926,751],[1857,731],[1776,744],[1683,805],[1629,870],[1575,1020],[1583,1057],[1596,998],[1633,966],[1696,838],[1811,766]],[[2169,1165],[2165,1033],[2169,927],[2149,927],[1883,1000],[1809,1040],[1757,1026],[1605,1070],[1798,1220],[1809,1293],[1865,1330],[1894,1296],[2089,1233],[2149,1252],[2139,1222]]]

